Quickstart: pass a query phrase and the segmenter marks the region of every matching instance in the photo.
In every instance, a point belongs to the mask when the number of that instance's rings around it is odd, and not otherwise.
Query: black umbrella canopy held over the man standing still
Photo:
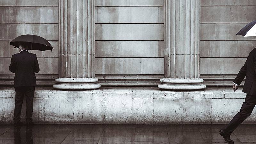
[[[28,47],[28,49],[30,49],[30,50],[39,50],[39,51],[51,50],[52,51],[52,49],[53,49],[52,45],[46,39],[44,39],[41,36],[36,36],[36,35],[18,36],[10,42],[10,45],[19,47],[20,42],[28,43],[28,46],[31,46],[31,48]]]

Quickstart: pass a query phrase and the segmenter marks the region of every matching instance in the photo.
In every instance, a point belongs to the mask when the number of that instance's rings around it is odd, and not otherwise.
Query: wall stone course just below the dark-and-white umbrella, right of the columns
[[[256,41],[201,41],[201,57],[248,57]]]

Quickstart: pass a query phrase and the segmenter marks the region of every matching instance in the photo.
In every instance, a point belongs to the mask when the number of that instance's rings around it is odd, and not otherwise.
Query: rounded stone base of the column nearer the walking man
[[[200,90],[206,86],[202,78],[161,78],[158,88],[168,90]]]

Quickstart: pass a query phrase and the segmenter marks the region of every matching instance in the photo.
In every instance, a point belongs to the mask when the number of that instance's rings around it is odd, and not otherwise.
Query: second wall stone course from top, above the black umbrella
[[[58,7],[0,7],[0,11],[1,23],[58,23]]]

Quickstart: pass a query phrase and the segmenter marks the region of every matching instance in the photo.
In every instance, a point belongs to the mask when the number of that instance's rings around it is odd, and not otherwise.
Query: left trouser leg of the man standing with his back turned
[[[14,123],[20,121],[21,107],[24,99],[24,88],[16,87],[15,88],[15,107],[14,107]]]

